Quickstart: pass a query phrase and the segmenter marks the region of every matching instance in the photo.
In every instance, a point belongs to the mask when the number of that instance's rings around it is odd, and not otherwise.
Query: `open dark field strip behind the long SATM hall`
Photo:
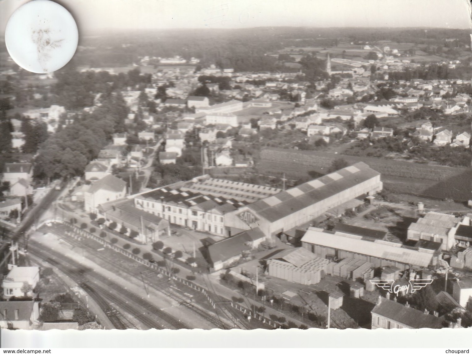
[[[262,174],[286,173],[288,178],[300,179],[308,177],[309,171],[326,173],[332,162],[341,157],[352,164],[362,161],[371,166],[382,174],[384,189],[394,193],[460,202],[470,198],[472,173],[468,168],[269,147],[261,151],[257,169]]]

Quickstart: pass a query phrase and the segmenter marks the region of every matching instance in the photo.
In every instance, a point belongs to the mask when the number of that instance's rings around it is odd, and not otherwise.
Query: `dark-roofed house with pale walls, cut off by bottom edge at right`
[[[371,329],[384,328],[445,328],[448,324],[444,319],[431,315],[428,311],[413,309],[405,305],[379,296],[376,306],[371,311]]]

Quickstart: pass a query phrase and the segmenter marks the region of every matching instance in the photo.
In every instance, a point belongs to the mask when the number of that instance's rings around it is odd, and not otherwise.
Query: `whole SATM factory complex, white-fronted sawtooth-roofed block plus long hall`
[[[171,224],[199,231],[230,237],[259,228],[275,236],[380,190],[380,173],[360,162],[285,191],[205,175],[142,193],[134,203]]]

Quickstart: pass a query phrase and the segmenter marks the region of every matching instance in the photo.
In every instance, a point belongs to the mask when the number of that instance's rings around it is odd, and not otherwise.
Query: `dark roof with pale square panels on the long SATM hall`
[[[358,162],[256,201],[248,207],[263,218],[274,222],[379,175],[380,173],[372,170],[367,164]]]

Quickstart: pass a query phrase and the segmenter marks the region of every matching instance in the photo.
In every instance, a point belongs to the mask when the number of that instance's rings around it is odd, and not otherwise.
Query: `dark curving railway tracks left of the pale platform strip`
[[[154,315],[166,322],[168,325],[165,326],[165,328],[170,327],[171,329],[190,329],[184,322],[176,319],[169,313],[156,308],[143,298],[131,293],[126,289],[123,289],[122,286],[109,280],[105,276],[101,276],[100,274],[93,271],[93,269],[86,268],[80,263],[74,261],[73,259],[65,257],[59,252],[45,250],[45,248],[37,242],[30,241],[30,246],[31,247],[29,251],[32,254],[41,257],[52,265],[58,267],[67,276],[72,278],[77,284],[86,284],[85,286],[87,289],[92,288],[95,293],[91,293],[91,296],[93,296],[93,294],[100,295],[101,299],[97,296],[97,298],[99,299],[98,303],[104,306],[103,310],[106,311],[105,313],[107,313],[107,316],[109,316],[110,321],[114,323],[114,325],[116,323],[117,327],[130,328],[129,325],[126,326],[126,324],[123,323],[124,321],[122,318],[120,318],[121,316],[118,315],[118,311],[114,311],[116,309],[110,308],[109,304],[104,303],[104,298],[110,300],[112,303],[116,303],[121,309],[133,314],[136,319],[138,319],[141,323],[143,323],[149,328],[160,329],[163,328],[164,325],[161,323],[161,321],[152,319],[152,316],[146,316],[146,313],[147,315]],[[108,288],[111,288],[113,291],[107,290],[101,284],[105,285]],[[120,294],[121,297],[118,296],[118,294]],[[126,302],[122,299],[122,297],[125,297],[129,301]],[[131,305],[130,303],[133,305]]]

